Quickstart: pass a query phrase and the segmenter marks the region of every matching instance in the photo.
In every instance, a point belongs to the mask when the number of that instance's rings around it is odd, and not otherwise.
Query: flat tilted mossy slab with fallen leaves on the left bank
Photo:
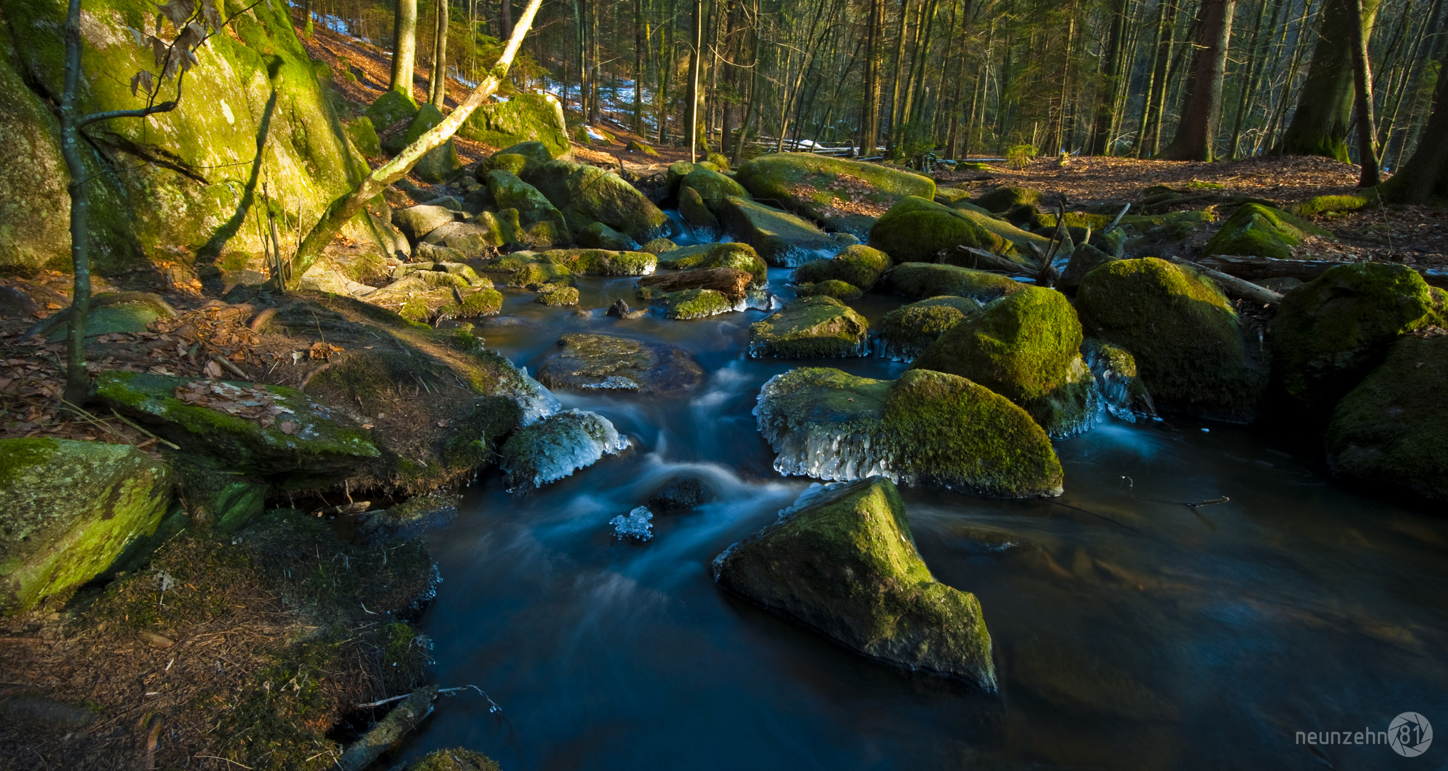
[[[110,370],[96,395],[184,451],[282,489],[355,476],[381,456],[352,419],[285,386]]]

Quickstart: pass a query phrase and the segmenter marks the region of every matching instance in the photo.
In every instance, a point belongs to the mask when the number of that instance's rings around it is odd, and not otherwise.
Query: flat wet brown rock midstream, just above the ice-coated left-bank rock
[[[704,380],[704,369],[683,349],[608,334],[565,334],[539,367],[547,388],[672,393]]]

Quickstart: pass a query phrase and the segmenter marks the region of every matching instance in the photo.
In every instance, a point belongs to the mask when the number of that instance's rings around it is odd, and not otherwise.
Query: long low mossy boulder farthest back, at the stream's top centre
[[[935,182],[928,176],[812,153],[756,158],[740,166],[734,178],[754,198],[775,201],[817,221],[846,214],[877,217],[908,195],[935,197]]]

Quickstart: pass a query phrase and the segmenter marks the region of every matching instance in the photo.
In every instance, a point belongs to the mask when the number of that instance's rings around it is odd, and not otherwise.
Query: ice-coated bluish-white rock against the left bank
[[[568,409],[524,425],[502,446],[502,470],[513,490],[542,487],[628,448],[628,437],[594,412]]]

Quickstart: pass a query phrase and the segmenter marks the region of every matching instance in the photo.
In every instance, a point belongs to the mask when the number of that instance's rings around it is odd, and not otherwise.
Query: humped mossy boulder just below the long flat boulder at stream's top
[[[928,198],[905,198],[895,204],[870,229],[869,243],[898,263],[933,262],[941,250],[954,256],[957,246],[1024,259],[1011,242],[986,230],[966,213]]]

